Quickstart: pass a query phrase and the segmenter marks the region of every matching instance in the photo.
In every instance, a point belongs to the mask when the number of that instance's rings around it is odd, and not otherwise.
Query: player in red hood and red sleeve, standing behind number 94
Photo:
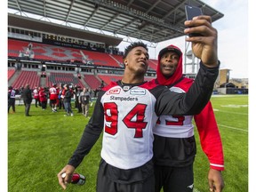
[[[171,92],[187,92],[193,80],[182,76],[182,52],[174,45],[158,54],[156,83],[167,86]],[[209,101],[195,117],[201,146],[210,162],[209,187],[220,192],[224,188],[221,171],[224,170],[220,132]],[[193,163],[196,156],[193,116],[160,116],[154,132],[154,163],[156,192],[192,192]]]

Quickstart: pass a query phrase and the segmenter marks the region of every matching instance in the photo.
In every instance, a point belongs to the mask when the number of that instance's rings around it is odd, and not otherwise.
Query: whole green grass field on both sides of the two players
[[[248,96],[213,96],[212,106],[220,127],[224,155],[226,192],[248,191]],[[74,106],[74,104],[73,104]],[[8,191],[55,192],[63,191],[57,173],[68,163],[69,157],[84,131],[88,118],[78,114],[65,117],[64,110],[52,113],[31,106],[29,117],[24,106],[16,106],[16,113],[8,116]],[[12,110],[10,110],[12,111]],[[92,108],[90,109],[92,114]],[[101,138],[100,138],[101,139]],[[209,191],[209,164],[197,140],[195,192]],[[66,191],[95,192],[95,181],[100,162],[101,140],[76,169],[86,176],[84,186],[69,184]]]

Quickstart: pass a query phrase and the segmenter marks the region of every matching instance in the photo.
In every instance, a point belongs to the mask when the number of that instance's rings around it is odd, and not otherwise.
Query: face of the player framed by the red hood
[[[160,60],[160,69],[164,76],[172,76],[178,67],[180,57],[176,52],[165,52]]]

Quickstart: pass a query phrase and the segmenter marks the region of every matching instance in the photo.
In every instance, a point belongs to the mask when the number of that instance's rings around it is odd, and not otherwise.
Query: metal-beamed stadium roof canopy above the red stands
[[[17,11],[15,17],[8,15],[8,25],[20,28],[29,25],[35,30],[41,25],[40,29],[44,30],[43,19],[61,20],[66,28],[71,23],[80,26],[79,29],[66,31],[69,36],[85,36],[94,41],[102,37],[102,43],[114,46],[124,39],[129,42],[131,37],[157,44],[184,36],[185,4],[202,8],[204,14],[212,17],[212,21],[224,16],[200,0],[8,0],[8,8]],[[32,24],[33,20],[29,21],[28,17],[24,20],[26,12],[41,16],[41,23]],[[45,30],[51,29],[49,22],[48,25]],[[60,31],[52,28],[52,32],[64,33],[64,27]],[[92,33],[90,28],[98,31]]]

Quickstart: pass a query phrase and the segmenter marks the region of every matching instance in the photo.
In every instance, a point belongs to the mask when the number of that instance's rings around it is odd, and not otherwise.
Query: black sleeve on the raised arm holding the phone
[[[213,85],[219,74],[219,66],[207,68],[200,62],[195,82],[187,93],[170,92],[165,89],[159,97],[156,96],[156,115],[199,114],[211,98]]]

